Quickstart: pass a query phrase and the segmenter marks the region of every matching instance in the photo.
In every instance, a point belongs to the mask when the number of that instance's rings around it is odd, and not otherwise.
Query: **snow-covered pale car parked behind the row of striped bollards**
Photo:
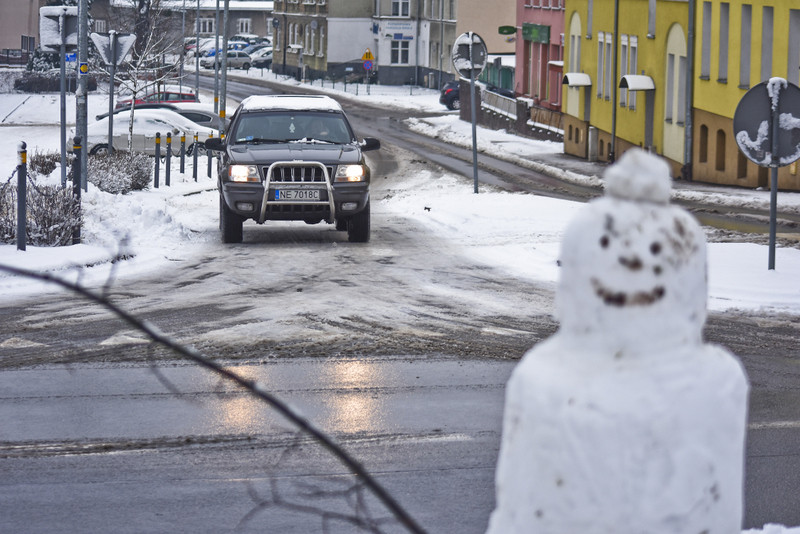
[[[114,114],[114,150],[128,150],[131,112],[121,111]],[[217,130],[196,124],[186,117],[169,109],[141,109],[133,114],[133,140],[131,149],[150,156],[155,155],[156,133],[161,134],[162,154],[166,150],[166,137],[172,134],[173,151],[179,150],[181,135],[186,136],[187,152],[194,150],[194,136],[198,137],[198,149],[203,147],[203,142],[209,137],[218,135]],[[74,136],[74,128],[70,136]],[[86,127],[86,140],[83,144],[89,154],[96,155],[108,150],[108,117],[95,121]],[[68,147],[71,146],[68,144]]]

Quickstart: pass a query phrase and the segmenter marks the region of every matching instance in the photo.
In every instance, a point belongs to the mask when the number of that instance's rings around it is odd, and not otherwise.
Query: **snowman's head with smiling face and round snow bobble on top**
[[[560,332],[615,353],[700,343],[705,236],[691,215],[669,205],[669,166],[633,149],[605,179],[606,195],[564,235]]]

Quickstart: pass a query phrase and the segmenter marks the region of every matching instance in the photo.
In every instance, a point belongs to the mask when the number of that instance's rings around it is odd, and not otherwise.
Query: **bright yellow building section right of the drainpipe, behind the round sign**
[[[733,115],[760,82],[779,77],[798,85],[800,2],[698,1],[696,17],[693,178],[769,187],[770,169],[747,160],[736,145]],[[800,190],[797,163],[779,169],[778,187]]]

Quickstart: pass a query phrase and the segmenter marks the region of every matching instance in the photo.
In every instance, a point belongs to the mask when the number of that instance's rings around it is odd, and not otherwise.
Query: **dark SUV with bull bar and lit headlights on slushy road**
[[[370,234],[370,172],[338,102],[321,95],[251,96],[231,118],[224,139],[205,141],[221,152],[218,166],[222,241],[240,243],[242,223],[325,221],[365,243]]]

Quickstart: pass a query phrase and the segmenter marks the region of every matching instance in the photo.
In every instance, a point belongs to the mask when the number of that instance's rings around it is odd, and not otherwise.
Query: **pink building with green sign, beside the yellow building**
[[[514,89],[537,106],[561,110],[566,0],[517,0]]]

